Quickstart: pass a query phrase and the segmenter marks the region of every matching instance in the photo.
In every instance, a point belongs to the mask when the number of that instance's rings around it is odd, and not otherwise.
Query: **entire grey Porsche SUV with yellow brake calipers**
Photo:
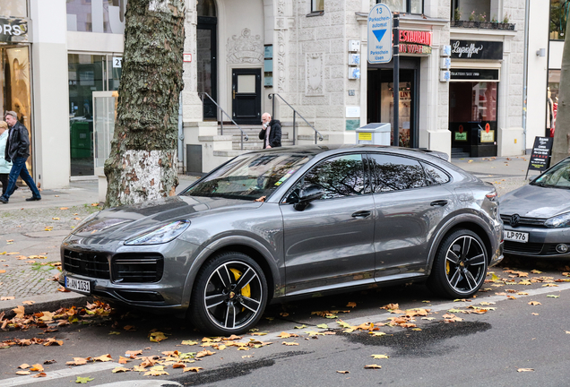
[[[427,281],[470,297],[502,237],[495,188],[427,151],[277,148],[85,219],[61,246],[60,282],[228,335],[269,302],[317,292]]]

